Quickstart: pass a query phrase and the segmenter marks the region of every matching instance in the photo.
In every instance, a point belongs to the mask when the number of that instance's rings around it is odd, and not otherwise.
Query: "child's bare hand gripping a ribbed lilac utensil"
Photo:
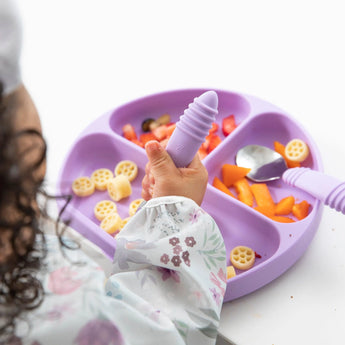
[[[157,141],[145,145],[149,162],[142,182],[142,197],[145,200],[160,196],[184,196],[201,205],[206,191],[208,173],[196,155],[187,168],[177,168]]]

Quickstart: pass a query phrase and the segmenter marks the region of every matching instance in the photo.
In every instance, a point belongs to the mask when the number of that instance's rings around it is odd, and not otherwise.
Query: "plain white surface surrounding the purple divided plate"
[[[298,119],[326,173],[345,179],[342,1],[18,0],[25,84],[49,145],[51,188],[91,121],[181,88],[255,95]],[[345,217],[325,207],[305,255],[260,290],[224,304],[239,345],[344,344]]]

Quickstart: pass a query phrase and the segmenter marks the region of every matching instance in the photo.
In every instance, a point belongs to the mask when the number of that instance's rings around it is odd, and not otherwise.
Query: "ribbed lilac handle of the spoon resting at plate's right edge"
[[[288,169],[282,179],[345,214],[345,182],[309,168]]]

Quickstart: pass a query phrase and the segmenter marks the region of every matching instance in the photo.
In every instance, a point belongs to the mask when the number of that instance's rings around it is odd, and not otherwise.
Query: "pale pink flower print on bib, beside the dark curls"
[[[66,295],[77,290],[82,285],[78,272],[70,267],[61,267],[49,275],[48,289],[57,295]]]

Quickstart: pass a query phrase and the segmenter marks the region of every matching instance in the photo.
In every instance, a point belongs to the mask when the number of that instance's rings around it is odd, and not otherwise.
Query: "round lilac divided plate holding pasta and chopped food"
[[[121,160],[132,160],[139,167],[138,177],[132,182],[132,195],[117,202],[122,218],[128,217],[129,204],[141,197],[141,180],[144,177],[146,154],[143,148],[122,137],[122,127],[131,123],[138,135],[146,118],[158,118],[169,113],[177,122],[195,97],[207,89],[187,89],[162,92],[122,105],[97,118],[76,139],[60,171],[58,193],[72,194],[75,178],[91,176],[99,168],[114,170]],[[274,141],[286,144],[294,138],[304,140],[310,149],[303,166],[322,170],[321,158],[309,134],[291,116],[278,107],[256,97],[214,90],[218,94],[218,133],[222,143],[212,151],[203,163],[209,173],[209,183],[202,207],[217,222],[225,241],[227,257],[238,245],[251,247],[261,258],[247,270],[236,270],[237,275],[228,280],[224,301],[246,295],[277,278],[291,267],[307,249],[322,214],[322,203],[309,194],[285,184],[282,180],[268,182],[275,201],[293,195],[296,201],[307,200],[311,204],[309,215],[294,223],[278,223],[246,206],[235,198],[212,186],[215,176],[221,176],[224,163],[235,164],[236,152],[249,144],[273,148]],[[222,119],[234,114],[238,127],[226,138],[221,133]],[[110,199],[107,191],[96,191],[89,197],[74,196],[63,213],[63,219],[90,241],[99,246],[112,259],[115,253],[114,238],[99,227],[93,214],[96,203]],[[59,202],[59,207],[63,206]],[[228,259],[230,265],[230,260]]]

